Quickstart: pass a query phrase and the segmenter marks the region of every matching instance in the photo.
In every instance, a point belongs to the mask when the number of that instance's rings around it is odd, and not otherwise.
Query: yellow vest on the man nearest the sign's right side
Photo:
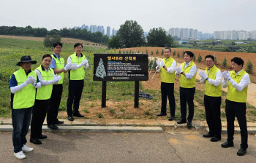
[[[172,65],[173,61],[175,61],[173,59],[173,57],[169,57],[167,59],[163,59],[165,66],[170,68],[170,65]],[[161,63],[161,81],[165,82],[165,83],[174,83],[175,80],[175,71],[173,73],[167,73],[167,71],[165,70],[165,68],[162,68],[162,63]]]

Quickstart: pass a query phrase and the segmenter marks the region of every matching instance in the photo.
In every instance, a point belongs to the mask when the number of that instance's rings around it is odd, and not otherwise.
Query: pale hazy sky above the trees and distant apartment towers
[[[0,26],[61,29],[126,20],[152,28],[193,28],[203,33],[256,30],[255,0],[0,0]]]

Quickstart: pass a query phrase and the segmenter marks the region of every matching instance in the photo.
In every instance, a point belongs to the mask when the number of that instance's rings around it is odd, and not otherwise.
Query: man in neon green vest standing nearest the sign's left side
[[[83,117],[78,109],[83,92],[85,68],[89,68],[88,60],[82,54],[83,45],[77,43],[74,45],[74,49],[74,54],[67,58],[67,64],[76,64],[69,71],[69,97],[67,98],[67,116],[69,121],[74,121],[73,116]]]

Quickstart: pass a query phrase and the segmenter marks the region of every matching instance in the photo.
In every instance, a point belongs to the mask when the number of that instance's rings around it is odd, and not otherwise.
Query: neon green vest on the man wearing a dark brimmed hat
[[[28,75],[23,68],[20,67],[18,71],[13,73],[18,85],[23,84],[29,76],[33,76],[37,83],[37,73],[31,71]],[[36,98],[36,88],[32,84],[28,84],[23,89],[15,92],[13,97],[13,109],[30,108],[34,106]]]

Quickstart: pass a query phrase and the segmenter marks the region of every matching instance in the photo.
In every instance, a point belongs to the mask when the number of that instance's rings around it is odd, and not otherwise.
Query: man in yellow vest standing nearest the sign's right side
[[[162,94],[162,106],[161,113],[157,114],[157,116],[166,116],[166,103],[167,96],[169,99],[170,106],[170,117],[169,121],[173,121],[175,119],[175,109],[176,103],[174,98],[174,81],[175,81],[175,70],[176,70],[176,60],[173,57],[170,57],[171,49],[170,47],[165,47],[165,58],[161,61],[161,63],[157,62],[157,71],[161,72],[161,94]]]

